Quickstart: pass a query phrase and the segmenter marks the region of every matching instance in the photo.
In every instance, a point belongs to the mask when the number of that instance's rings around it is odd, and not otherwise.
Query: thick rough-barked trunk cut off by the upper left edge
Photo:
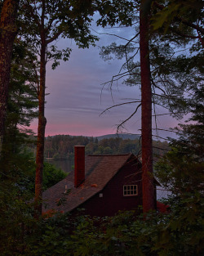
[[[16,17],[19,1],[5,0],[3,2],[0,20],[0,154],[2,137],[7,116],[8,88],[11,70],[11,54],[16,38]]]

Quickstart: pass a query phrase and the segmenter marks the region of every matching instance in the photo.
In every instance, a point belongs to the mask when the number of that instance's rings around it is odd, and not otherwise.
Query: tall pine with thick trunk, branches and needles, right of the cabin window
[[[127,85],[141,86],[144,184],[145,180],[148,181],[145,185],[146,189],[143,190],[144,205],[146,205],[145,201],[149,202],[149,207],[144,206],[145,212],[148,208],[153,209],[153,200],[152,203],[149,200],[149,197],[153,198],[152,106],[155,119],[157,115],[155,104],[167,108],[171,115],[176,117],[189,111],[188,102],[184,97],[188,97],[191,88],[202,81],[202,6],[199,4],[193,7],[191,0],[187,3],[181,1],[179,4],[174,0],[100,2],[101,5],[105,3],[100,10],[102,15],[98,21],[100,25],[129,25],[135,29],[135,35],[130,39],[120,36],[125,41],[124,44],[112,43],[109,47],[102,47],[101,56],[110,59],[111,54],[114,54],[119,59],[126,58],[122,69],[113,76],[111,85],[114,81],[127,77]],[[150,15],[151,20],[149,20]],[[151,25],[156,29],[153,30]],[[139,35],[140,43],[138,43]],[[196,40],[195,43],[186,49],[186,45],[192,43],[192,40]],[[140,61],[134,61],[139,51]],[[188,52],[188,56],[184,55],[184,51]],[[140,107],[139,100],[129,103],[137,104],[136,109],[130,117],[118,125],[118,128],[122,128]],[[145,177],[147,174],[148,179]],[[146,194],[148,191],[149,194]]]

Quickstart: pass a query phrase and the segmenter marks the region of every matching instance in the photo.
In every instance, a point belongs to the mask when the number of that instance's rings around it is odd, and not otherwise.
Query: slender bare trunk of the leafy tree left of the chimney
[[[40,64],[40,90],[38,95],[38,140],[36,153],[35,176],[35,217],[42,215],[42,173],[44,161],[44,141],[47,120],[45,118],[45,89],[46,89],[46,40],[42,38],[41,64]]]

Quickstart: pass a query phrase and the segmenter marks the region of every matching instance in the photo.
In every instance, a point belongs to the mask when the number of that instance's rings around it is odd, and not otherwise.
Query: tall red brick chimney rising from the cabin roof
[[[74,186],[85,180],[85,146],[74,146]]]

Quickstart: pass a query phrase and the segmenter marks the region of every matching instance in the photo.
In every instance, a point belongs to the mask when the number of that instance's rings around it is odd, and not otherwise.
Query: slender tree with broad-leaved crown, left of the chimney
[[[96,37],[89,30],[91,16],[94,13],[92,1],[42,0],[27,1],[27,13],[24,16],[24,35],[27,42],[33,45],[33,51],[39,54],[39,61],[34,61],[38,76],[38,141],[36,155],[35,204],[36,214],[42,213],[42,171],[44,159],[44,137],[47,119],[45,118],[46,65],[54,60],[53,68],[59,60],[69,60],[71,49],[58,51],[55,41],[58,38],[73,38],[79,47],[94,44]],[[29,24],[29,27],[28,27]],[[38,70],[39,67],[39,70]]]

